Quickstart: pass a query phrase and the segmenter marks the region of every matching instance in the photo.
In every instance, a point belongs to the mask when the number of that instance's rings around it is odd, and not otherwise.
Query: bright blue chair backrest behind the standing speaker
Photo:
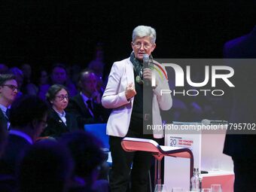
[[[109,144],[108,144],[108,135],[106,134],[106,123],[98,123],[98,124],[85,124],[84,125],[84,130],[87,133],[93,134],[93,136],[96,136],[103,145],[103,148],[109,149]]]

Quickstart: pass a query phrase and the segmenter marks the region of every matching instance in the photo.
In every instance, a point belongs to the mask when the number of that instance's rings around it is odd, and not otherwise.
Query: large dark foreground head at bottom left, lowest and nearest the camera
[[[69,151],[57,142],[45,140],[25,151],[17,179],[20,192],[66,192],[72,178]]]

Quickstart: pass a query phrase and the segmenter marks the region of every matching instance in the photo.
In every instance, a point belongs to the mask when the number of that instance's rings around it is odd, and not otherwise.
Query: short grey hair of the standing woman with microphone
[[[136,26],[136,28],[133,29],[133,42],[138,37],[139,38],[150,37],[151,43],[154,44],[157,39],[157,33],[156,33],[156,30],[151,26]]]

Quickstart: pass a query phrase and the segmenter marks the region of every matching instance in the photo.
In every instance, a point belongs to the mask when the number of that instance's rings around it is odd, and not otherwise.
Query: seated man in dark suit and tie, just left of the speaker
[[[69,100],[67,111],[75,114],[78,126],[84,130],[85,123],[105,123],[108,112],[101,105],[101,95],[96,90],[97,77],[93,72],[81,72],[78,87],[81,92]]]

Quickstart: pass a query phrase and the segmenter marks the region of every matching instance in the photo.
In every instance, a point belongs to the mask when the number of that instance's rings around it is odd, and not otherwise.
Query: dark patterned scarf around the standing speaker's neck
[[[149,60],[150,60],[150,62],[152,62],[152,60],[153,60],[152,55],[149,56]],[[136,75],[136,82],[138,84],[143,84],[143,61],[136,59],[134,52],[132,52],[130,55],[130,62],[133,63],[133,69],[134,69],[135,75]],[[149,66],[151,67],[151,65],[149,65]]]

